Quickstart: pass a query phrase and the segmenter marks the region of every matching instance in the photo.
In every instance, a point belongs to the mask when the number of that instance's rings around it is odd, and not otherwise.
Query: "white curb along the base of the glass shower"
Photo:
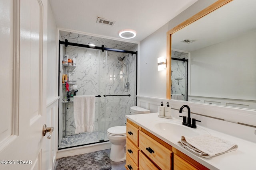
[[[62,150],[58,150],[57,159],[67,157],[67,156],[74,156],[78,154],[96,152],[99,150],[105,150],[110,148],[111,148],[111,142],[104,142],[104,143],[96,143],[96,144],[86,145],[81,147],[62,149]]]

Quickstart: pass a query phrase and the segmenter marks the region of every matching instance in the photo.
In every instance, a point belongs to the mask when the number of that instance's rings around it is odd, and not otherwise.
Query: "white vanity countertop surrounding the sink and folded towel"
[[[238,145],[238,149],[235,151],[224,153],[218,156],[213,156],[212,158],[203,158],[197,156],[196,154],[193,154],[192,152],[184,149],[183,147],[180,147],[180,145],[178,145],[178,141],[180,140],[180,138],[173,137],[172,135],[170,135],[170,133],[168,133],[168,131],[171,131],[171,129],[167,129],[166,131],[160,132],[156,127],[154,127],[155,121],[164,120],[174,121],[176,123],[178,121],[180,122],[180,124],[182,124],[182,120],[175,118],[161,118],[158,117],[158,113],[126,115],[126,118],[133,121],[140,127],[146,129],[153,135],[157,136],[158,138],[162,139],[163,141],[171,145],[172,147],[180,150],[184,154],[190,156],[192,159],[196,160],[197,162],[211,170],[256,170],[256,143],[252,143],[250,141],[246,141],[238,137],[227,135],[225,133],[221,133],[197,125],[198,131],[205,130],[212,136],[219,137],[227,141],[231,141],[232,143]],[[181,136],[182,134],[180,134],[180,137]]]

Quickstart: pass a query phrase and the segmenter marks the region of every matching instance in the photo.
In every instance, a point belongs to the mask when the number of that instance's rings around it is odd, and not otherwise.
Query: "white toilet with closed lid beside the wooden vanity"
[[[130,107],[130,113],[142,114],[150,113],[150,110],[138,106]],[[121,162],[126,160],[126,126],[110,127],[107,130],[107,137],[111,142],[110,160],[114,162]]]

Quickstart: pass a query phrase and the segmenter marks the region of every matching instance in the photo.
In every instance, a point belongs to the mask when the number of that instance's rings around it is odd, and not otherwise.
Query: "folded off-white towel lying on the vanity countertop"
[[[182,136],[178,144],[204,158],[210,158],[226,152],[237,150],[238,146],[208,134],[195,137]]]

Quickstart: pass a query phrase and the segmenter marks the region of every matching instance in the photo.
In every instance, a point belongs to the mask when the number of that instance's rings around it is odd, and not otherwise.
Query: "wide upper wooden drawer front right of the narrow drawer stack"
[[[172,151],[155,141],[142,131],[139,131],[139,148],[148,156],[154,164],[163,170],[171,169]]]

